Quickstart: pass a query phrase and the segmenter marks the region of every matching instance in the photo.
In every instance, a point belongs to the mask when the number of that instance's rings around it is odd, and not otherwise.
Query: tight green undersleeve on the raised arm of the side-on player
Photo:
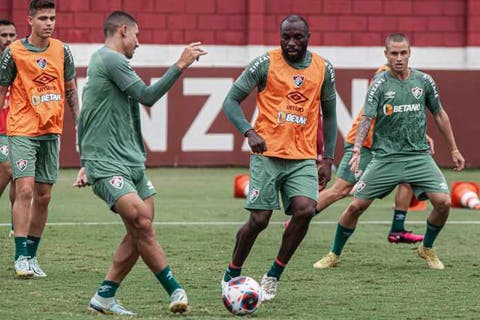
[[[153,106],[155,102],[170,90],[181,74],[182,71],[176,65],[173,65],[154,84],[146,86],[143,81],[136,81],[127,87],[125,92],[141,104]]]

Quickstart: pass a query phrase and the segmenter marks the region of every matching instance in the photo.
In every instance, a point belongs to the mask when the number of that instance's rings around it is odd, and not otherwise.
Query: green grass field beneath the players
[[[118,291],[118,298],[142,319],[232,318],[220,295],[238,227],[247,219],[243,200],[234,199],[230,169],[151,169],[157,188],[156,231],[171,266],[189,294],[192,312],[173,316],[168,298],[139,261]],[[480,171],[453,173],[449,182],[480,181]],[[13,241],[8,238],[9,206],[0,201],[0,319],[98,319],[86,311],[102,281],[112,252],[124,234],[119,218],[90,189],[73,189],[76,171],[63,170],[54,187],[49,225],[39,249],[48,277],[15,280]],[[258,319],[478,319],[480,316],[480,212],[451,211],[436,246],[443,271],[429,270],[413,245],[387,242],[392,196],[377,200],[364,214],[338,268],[314,270],[312,264],[331,245],[338,215],[348,199],[314,219],[305,241],[280,282],[277,298],[263,304]],[[423,233],[425,212],[411,212],[408,228]],[[257,280],[276,256],[282,212],[262,233],[244,266]],[[408,223],[410,222],[410,223]]]

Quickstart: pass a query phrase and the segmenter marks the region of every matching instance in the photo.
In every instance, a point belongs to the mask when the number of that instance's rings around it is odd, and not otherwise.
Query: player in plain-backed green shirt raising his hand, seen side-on
[[[153,106],[195,59],[206,54],[200,42],[188,45],[163,77],[145,86],[129,64],[138,47],[138,26],[128,13],[115,11],[103,25],[105,46],[88,65],[88,83],[78,122],[82,169],[75,186],[92,185],[93,192],[118,213],[127,234],[116,249],[108,273],[88,309],[103,314],[134,316],[115,298],[122,280],[139,257],[170,297],[173,313],[188,311],[185,290],[173,276],[153,229],[154,186],[145,174],[145,146],[140,106]]]

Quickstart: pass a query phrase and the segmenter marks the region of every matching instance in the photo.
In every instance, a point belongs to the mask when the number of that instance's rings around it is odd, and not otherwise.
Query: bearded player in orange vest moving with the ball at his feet
[[[335,73],[330,62],[307,50],[309,38],[303,17],[286,17],[280,25],[281,48],[253,60],[223,104],[252,154],[245,204],[250,218],[237,233],[222,285],[241,274],[255,239],[273,210],[280,209],[279,191],[285,213],[292,215],[277,257],[261,280],[265,301],[275,297],[282,272],[307,233],[319,184],[323,187],[331,177],[337,132]],[[240,103],[255,88],[259,114],[252,127]]]

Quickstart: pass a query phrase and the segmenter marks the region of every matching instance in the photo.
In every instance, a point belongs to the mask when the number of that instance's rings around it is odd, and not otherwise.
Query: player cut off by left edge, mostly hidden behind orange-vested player
[[[17,30],[12,21],[0,20],[0,55],[17,39]],[[8,138],[7,138],[7,114],[8,114],[9,91],[5,94],[5,103],[0,112],[0,197],[10,182],[10,205],[13,207],[15,201],[15,183],[12,180],[12,166],[8,161]],[[13,236],[13,212],[10,236]]]

